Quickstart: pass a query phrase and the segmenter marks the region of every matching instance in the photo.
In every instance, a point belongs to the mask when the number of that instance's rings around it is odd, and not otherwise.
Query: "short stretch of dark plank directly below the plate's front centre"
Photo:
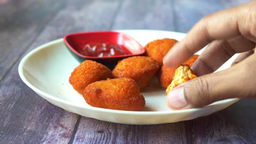
[[[183,122],[126,125],[82,117],[74,143],[186,143]]]

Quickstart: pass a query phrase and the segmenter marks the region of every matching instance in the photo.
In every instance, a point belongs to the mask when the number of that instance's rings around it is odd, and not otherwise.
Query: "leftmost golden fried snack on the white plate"
[[[108,78],[113,78],[111,70],[100,63],[86,60],[73,70],[69,83],[77,92],[83,94],[84,88],[90,83]]]

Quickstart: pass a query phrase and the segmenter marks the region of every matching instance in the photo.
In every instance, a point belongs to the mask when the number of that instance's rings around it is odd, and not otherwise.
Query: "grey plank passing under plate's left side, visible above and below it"
[[[110,29],[118,6],[119,2],[110,1],[69,1],[38,37],[30,35],[36,40],[25,53],[66,33]],[[79,116],[28,88],[19,79],[18,62],[0,82],[0,143],[68,143]]]

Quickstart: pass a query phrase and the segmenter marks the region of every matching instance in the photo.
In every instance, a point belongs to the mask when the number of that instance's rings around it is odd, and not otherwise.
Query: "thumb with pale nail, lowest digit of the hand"
[[[229,69],[196,77],[167,94],[171,109],[202,107],[228,98],[256,98],[256,55]]]

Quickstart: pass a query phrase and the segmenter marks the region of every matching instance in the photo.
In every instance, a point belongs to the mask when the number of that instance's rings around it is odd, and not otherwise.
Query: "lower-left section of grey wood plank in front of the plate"
[[[21,81],[17,67],[0,83],[0,143],[67,143],[78,115],[40,98]]]

